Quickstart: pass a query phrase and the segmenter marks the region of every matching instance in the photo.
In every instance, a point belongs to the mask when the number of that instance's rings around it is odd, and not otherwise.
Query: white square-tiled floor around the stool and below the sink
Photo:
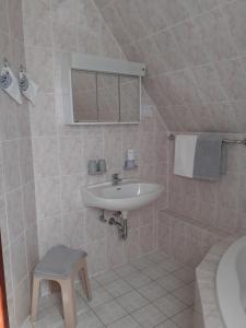
[[[78,328],[191,328],[195,272],[154,253],[91,280],[93,300],[77,289]],[[59,296],[42,297],[35,328],[62,328]]]

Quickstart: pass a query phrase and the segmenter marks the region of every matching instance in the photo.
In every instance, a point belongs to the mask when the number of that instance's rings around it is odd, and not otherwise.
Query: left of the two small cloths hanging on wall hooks
[[[4,90],[17,104],[22,104],[22,95],[19,89],[17,79],[9,67],[3,67],[0,73],[0,86]]]

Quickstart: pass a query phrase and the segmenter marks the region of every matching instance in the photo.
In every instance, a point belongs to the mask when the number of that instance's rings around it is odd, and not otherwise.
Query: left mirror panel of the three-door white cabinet
[[[71,80],[74,121],[96,122],[96,73],[72,69]]]

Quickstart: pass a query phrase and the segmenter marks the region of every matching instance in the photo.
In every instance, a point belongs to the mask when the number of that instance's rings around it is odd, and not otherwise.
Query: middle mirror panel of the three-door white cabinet
[[[97,73],[98,121],[119,121],[119,75]]]

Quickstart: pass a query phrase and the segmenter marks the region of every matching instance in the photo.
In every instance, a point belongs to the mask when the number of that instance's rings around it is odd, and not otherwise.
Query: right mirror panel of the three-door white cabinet
[[[140,120],[139,78],[120,75],[120,121]]]

